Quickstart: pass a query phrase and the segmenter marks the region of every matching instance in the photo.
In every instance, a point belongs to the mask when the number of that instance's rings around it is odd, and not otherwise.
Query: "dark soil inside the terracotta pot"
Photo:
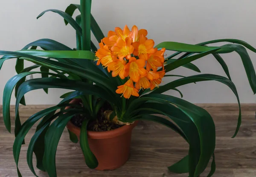
[[[108,103],[105,103],[102,106],[102,108],[100,108],[100,110],[97,114],[97,119],[92,120],[88,123],[87,129],[89,131],[109,131],[109,130],[113,130],[113,129],[116,129],[116,128],[119,128],[122,126],[122,125],[116,125],[116,124],[112,123],[111,121],[108,121],[105,119],[104,111],[107,111],[107,110],[112,110],[112,108]],[[71,118],[71,122],[75,126],[81,128],[84,118],[85,118],[84,115],[77,114]]]

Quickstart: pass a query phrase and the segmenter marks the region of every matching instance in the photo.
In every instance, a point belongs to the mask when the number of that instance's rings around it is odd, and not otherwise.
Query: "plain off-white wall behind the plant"
[[[46,9],[65,10],[70,3],[79,0],[1,0],[0,6],[0,50],[15,51],[26,44],[50,38],[75,47],[75,31],[65,26],[63,19],[48,12],[36,20],[38,14]],[[148,37],[155,43],[176,41],[182,43],[200,43],[220,38],[245,40],[256,47],[256,11],[255,0],[93,0],[92,13],[106,35],[109,30],[125,24],[134,24],[148,30]],[[249,51],[254,66],[256,54]],[[250,89],[236,53],[223,54],[230,66],[230,74],[236,84],[242,103],[256,103],[256,97]],[[193,62],[202,73],[223,75],[218,62],[207,56]],[[26,66],[29,66],[28,64]],[[15,75],[15,60],[8,60],[0,71],[0,104],[5,83]],[[180,68],[172,74],[192,75],[196,72]],[[169,80],[164,80],[167,83]],[[236,103],[236,97],[230,89],[217,82],[207,81],[189,84],[179,88],[184,99],[193,103]],[[55,104],[64,90],[50,89],[49,94],[42,90],[26,94],[27,104]],[[175,91],[168,94],[178,96]],[[13,97],[12,104],[15,103]]]

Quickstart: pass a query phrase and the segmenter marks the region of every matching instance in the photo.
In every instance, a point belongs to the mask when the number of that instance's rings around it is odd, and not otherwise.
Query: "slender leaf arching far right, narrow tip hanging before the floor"
[[[183,86],[188,83],[201,82],[201,81],[207,81],[207,80],[215,80],[215,81],[224,83],[236,95],[237,102],[239,104],[239,116],[238,116],[236,131],[233,135],[233,137],[235,137],[236,134],[238,133],[240,125],[241,125],[241,106],[240,106],[239,96],[238,96],[235,84],[231,80],[227,79],[226,77],[215,75],[215,74],[198,74],[198,75],[194,75],[194,76],[183,77],[181,79],[172,81],[170,83],[167,83],[166,85],[163,85],[163,86],[157,88],[156,90],[152,91],[151,94],[160,94],[165,91],[168,91],[170,88]]]

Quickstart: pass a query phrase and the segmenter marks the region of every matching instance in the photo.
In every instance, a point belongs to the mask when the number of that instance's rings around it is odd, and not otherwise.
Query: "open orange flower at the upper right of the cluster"
[[[154,40],[147,39],[143,34],[140,35],[139,42],[132,44],[134,46],[133,54],[139,56],[141,54],[153,54],[156,49],[154,49]]]

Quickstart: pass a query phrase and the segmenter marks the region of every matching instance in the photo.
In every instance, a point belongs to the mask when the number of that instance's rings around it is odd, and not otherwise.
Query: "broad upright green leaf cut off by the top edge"
[[[80,0],[81,3],[81,28],[82,50],[90,51],[90,11],[92,0]]]

